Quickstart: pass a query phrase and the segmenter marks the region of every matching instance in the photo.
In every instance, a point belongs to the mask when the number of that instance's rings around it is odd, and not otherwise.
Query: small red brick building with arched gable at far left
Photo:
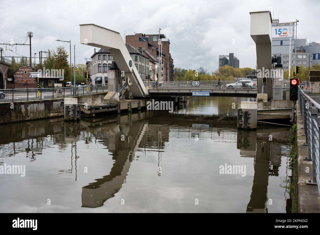
[[[33,77],[30,77],[31,72],[36,72],[35,69],[30,66],[21,66],[16,72],[13,73],[13,81],[15,89],[21,88],[36,88],[36,82]],[[27,80],[28,86],[24,85],[24,80]],[[13,87],[11,87],[13,88]]]

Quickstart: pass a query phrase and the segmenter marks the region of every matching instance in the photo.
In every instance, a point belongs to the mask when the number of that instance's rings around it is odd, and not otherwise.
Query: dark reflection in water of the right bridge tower
[[[290,134],[290,128],[238,130],[237,148],[240,149],[240,156],[254,158],[252,192],[246,209],[247,213],[268,213],[269,176],[279,176],[278,168],[281,166],[283,154],[281,142],[287,144]]]

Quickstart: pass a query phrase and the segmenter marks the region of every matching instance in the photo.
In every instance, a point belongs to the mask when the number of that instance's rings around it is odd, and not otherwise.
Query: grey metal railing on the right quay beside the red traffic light
[[[298,101],[301,113],[301,123],[303,123],[304,134],[306,135],[305,144],[308,145],[308,158],[312,160],[313,183],[316,183],[320,193],[320,168],[319,168],[319,110],[320,104],[311,97],[303,93],[299,87]],[[299,119],[297,118],[297,121]]]

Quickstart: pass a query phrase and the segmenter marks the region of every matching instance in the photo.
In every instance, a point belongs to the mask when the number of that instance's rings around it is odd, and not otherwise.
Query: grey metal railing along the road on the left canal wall
[[[65,98],[108,91],[108,84],[52,88],[0,89],[0,102]]]

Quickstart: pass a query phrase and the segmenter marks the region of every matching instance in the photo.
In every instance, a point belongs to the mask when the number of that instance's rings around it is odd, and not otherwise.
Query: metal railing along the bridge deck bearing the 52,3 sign
[[[192,85],[192,81],[145,81],[143,82],[147,89],[183,89],[201,87],[203,89],[249,89],[257,90],[257,84],[237,83],[236,81],[199,81],[198,84]]]

